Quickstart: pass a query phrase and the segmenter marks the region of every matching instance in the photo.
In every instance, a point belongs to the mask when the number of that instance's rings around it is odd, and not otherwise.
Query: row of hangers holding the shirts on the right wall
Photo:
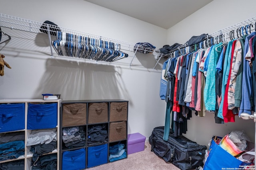
[[[256,31],[256,23],[255,23],[254,27],[255,27],[254,30]],[[212,45],[216,45],[219,43],[221,43],[220,46],[226,45],[228,43],[228,38],[230,40],[232,40],[235,38],[239,38],[239,35],[240,35],[240,37],[242,37],[244,34],[252,33],[252,30],[253,30],[252,28],[253,28],[253,24],[251,23],[249,25],[242,26],[238,29],[230,31],[229,35],[228,35],[228,33],[225,33],[225,34],[220,34],[216,37],[209,36],[204,41],[197,43],[195,45],[192,45],[192,46],[185,45],[185,47],[178,47],[178,49],[176,49],[175,51],[172,51],[170,53],[170,56],[178,57],[181,55],[192,53],[194,51],[198,51],[199,49],[206,49],[208,47],[211,47]],[[235,32],[236,32],[236,34],[235,34]],[[217,48],[220,46],[216,47],[216,51],[218,51]]]

